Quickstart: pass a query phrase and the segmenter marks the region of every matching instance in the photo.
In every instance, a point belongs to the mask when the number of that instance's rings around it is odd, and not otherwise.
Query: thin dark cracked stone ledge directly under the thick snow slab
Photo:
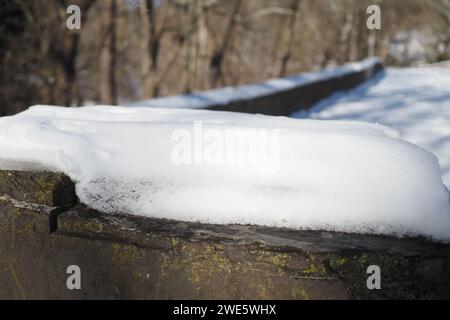
[[[241,245],[261,243],[269,247],[289,247],[315,253],[354,250],[450,258],[450,246],[425,239],[244,225],[208,225],[131,215],[106,215],[84,205],[58,216],[58,232],[86,234],[105,240],[115,237],[118,241],[131,242],[137,246],[155,246],[158,249],[167,249],[170,243],[156,245],[156,238],[177,237],[190,242],[214,241]]]

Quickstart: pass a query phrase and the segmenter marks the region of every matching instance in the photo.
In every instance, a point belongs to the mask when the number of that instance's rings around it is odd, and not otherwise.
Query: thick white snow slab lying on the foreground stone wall
[[[200,136],[199,121],[209,130]],[[276,157],[269,159],[277,170],[259,170],[258,161],[173,161],[174,132],[192,133],[203,155],[212,137],[217,142],[226,130],[252,129],[276,133],[279,140],[269,144]],[[436,157],[381,125],[36,106],[0,118],[0,159],[3,169],[19,163],[65,172],[82,202],[107,213],[450,240],[449,194]]]

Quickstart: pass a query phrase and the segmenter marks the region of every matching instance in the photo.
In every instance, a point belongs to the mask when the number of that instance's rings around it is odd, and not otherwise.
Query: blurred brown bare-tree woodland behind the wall
[[[66,9],[79,5],[81,30]],[[381,30],[366,27],[381,7]],[[0,116],[120,104],[376,55],[450,59],[450,0],[0,0]]]

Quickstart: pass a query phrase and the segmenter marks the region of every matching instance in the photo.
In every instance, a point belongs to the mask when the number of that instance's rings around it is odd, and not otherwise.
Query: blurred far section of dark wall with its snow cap
[[[334,69],[237,87],[138,101],[131,106],[224,110],[287,116],[308,109],[336,91],[351,89],[383,69],[377,58]]]

